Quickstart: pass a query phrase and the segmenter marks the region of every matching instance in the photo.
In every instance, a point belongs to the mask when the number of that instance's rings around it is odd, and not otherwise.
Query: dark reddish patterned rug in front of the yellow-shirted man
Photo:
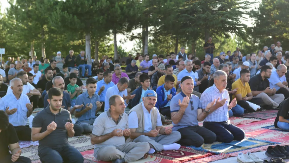
[[[242,117],[245,118],[260,118],[263,120],[276,118],[278,110],[262,110],[253,113],[243,114]]]

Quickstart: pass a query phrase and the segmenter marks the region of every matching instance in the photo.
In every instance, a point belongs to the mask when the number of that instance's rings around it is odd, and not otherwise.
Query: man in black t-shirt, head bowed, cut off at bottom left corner
[[[31,163],[27,157],[20,156],[21,148],[16,131],[9,123],[8,115],[0,110],[0,162],[1,163]],[[11,153],[9,153],[11,151]]]

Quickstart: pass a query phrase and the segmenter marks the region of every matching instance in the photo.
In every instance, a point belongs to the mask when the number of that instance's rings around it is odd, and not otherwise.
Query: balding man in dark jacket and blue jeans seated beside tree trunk
[[[85,78],[85,69],[88,69],[88,76],[91,76],[91,65],[87,64],[87,58],[85,57],[84,51],[81,51],[80,54],[76,57],[76,66],[81,71],[82,78]]]

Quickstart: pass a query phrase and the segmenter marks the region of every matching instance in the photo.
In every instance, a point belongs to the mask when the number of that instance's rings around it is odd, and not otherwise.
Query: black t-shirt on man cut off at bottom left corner
[[[9,155],[8,145],[15,144],[18,141],[17,133],[13,125],[10,123],[6,130],[2,130],[0,132],[0,160],[2,160],[3,157]]]

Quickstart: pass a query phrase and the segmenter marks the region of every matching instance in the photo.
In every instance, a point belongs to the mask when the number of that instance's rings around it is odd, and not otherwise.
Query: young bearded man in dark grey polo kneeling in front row
[[[70,112],[61,108],[63,92],[51,88],[48,93],[48,105],[40,111],[32,122],[32,141],[39,141],[38,155],[42,162],[83,163],[81,153],[68,144],[73,137],[73,123]]]

